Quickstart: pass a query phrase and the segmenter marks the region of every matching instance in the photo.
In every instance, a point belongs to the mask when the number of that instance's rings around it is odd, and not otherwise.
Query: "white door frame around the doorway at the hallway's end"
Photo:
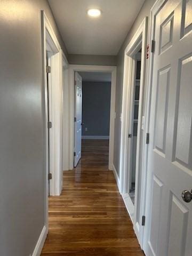
[[[113,170],[114,159],[114,130],[115,130],[115,91],[116,67],[93,65],[69,65],[69,169],[74,168],[74,75],[75,71],[111,73],[111,100],[110,100],[110,131],[109,131],[109,170]]]

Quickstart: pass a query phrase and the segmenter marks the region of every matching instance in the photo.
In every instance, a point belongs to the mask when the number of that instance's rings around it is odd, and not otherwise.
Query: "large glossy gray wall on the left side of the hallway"
[[[29,256],[44,226],[41,10],[44,0],[0,2],[0,255]]]

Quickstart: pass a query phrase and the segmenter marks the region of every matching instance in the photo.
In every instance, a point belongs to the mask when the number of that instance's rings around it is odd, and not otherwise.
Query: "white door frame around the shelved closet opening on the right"
[[[138,241],[142,247],[143,244],[143,227],[139,225],[136,220],[137,214],[139,217],[145,212],[145,187],[146,187],[146,172],[143,170],[142,166],[142,151],[143,142],[145,141],[145,136],[141,131],[142,115],[143,115],[143,101],[144,101],[144,85],[146,77],[146,50],[147,50],[147,29],[148,29],[148,18],[146,17],[141,22],[137,32],[132,37],[130,43],[127,45],[124,52],[124,77],[123,77],[123,100],[122,100],[122,127],[121,127],[121,161],[120,161],[120,192],[124,199],[127,211],[133,222],[133,228],[135,234],[138,237]],[[135,170],[135,204],[133,207],[131,198],[127,193],[127,188],[129,187],[128,177],[130,175],[130,161],[131,155],[131,140],[128,138],[131,127],[132,111],[130,111],[132,102],[132,88],[134,85],[134,75],[135,74],[135,60],[134,54],[138,52],[139,47],[142,47],[141,52],[141,76],[140,76],[140,97],[139,97],[139,115],[138,115],[138,138],[137,138],[137,158],[136,158],[136,170]],[[133,70],[134,69],[134,70]],[[133,72],[134,71],[134,72]],[[145,142],[144,142],[145,143]],[[138,197],[138,175],[140,172],[140,191],[142,191],[140,198]],[[137,212],[137,205],[140,205],[140,211]],[[140,220],[141,223],[141,220]]]

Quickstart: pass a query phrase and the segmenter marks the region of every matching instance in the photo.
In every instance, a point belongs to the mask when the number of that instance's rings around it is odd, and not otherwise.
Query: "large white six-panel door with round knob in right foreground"
[[[192,0],[168,0],[155,21],[148,171],[148,254],[192,255]],[[182,199],[182,191],[185,202]],[[147,216],[146,216],[147,218]]]

